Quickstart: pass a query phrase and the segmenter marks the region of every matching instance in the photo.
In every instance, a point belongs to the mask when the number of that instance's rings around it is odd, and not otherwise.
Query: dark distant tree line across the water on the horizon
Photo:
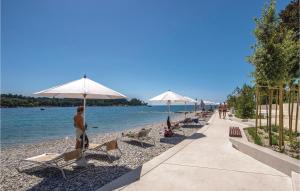
[[[45,97],[30,97],[17,94],[1,94],[1,107],[71,107],[80,106],[80,99],[60,99]],[[142,100],[132,98],[131,100],[87,100],[87,106],[142,106],[147,105]]]

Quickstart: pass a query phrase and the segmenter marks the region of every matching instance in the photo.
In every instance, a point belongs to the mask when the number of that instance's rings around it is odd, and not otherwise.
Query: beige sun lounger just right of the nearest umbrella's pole
[[[118,141],[116,139],[112,141],[108,141],[104,144],[90,143],[88,150],[104,152],[109,158],[109,160],[112,160],[110,154],[108,153],[109,151],[117,150],[119,154],[122,155],[122,152],[118,146]]]

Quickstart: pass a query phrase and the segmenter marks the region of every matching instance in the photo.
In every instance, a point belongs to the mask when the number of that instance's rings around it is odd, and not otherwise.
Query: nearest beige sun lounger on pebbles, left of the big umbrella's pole
[[[22,172],[21,169],[24,169],[26,167],[30,167],[30,166],[34,166],[34,165],[41,165],[41,166],[45,166],[45,167],[53,167],[53,168],[59,169],[62,173],[63,178],[67,179],[63,168],[74,163],[76,161],[76,159],[78,159],[82,156],[81,154],[82,154],[81,149],[73,150],[70,152],[64,152],[61,154],[44,153],[41,155],[37,155],[34,157],[20,160],[20,162],[17,166],[17,171]],[[30,164],[21,167],[21,163],[23,163],[23,162],[27,162]]]

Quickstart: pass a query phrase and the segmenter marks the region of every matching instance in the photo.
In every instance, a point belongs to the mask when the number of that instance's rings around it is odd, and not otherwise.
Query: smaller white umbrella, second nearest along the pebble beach
[[[172,91],[166,91],[158,96],[155,96],[150,99],[150,101],[157,101],[157,102],[165,102],[168,105],[169,108],[169,115],[170,115],[170,105],[172,102],[186,102],[186,98],[184,96],[181,96],[177,93],[174,93]]]

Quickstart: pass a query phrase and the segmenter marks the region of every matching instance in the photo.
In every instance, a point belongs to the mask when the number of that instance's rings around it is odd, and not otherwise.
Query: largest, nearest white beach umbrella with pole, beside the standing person
[[[83,99],[83,124],[85,124],[86,99],[124,99],[126,96],[103,86],[85,75],[79,80],[75,80],[63,85],[55,86],[34,95],[53,98],[77,98]],[[85,135],[83,135],[84,139]],[[84,144],[83,144],[84,145]],[[84,148],[83,148],[84,149]]]

